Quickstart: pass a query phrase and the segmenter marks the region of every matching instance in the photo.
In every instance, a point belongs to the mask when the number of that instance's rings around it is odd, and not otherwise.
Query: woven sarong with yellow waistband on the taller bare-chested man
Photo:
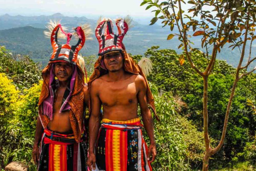
[[[127,121],[103,119],[95,146],[96,170],[151,171],[141,127],[139,118]]]

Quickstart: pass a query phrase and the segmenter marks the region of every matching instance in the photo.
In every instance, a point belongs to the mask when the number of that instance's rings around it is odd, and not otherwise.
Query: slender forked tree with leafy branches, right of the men
[[[183,54],[180,55],[180,64],[184,63],[184,58],[188,59],[190,66],[204,79],[203,94],[203,115],[204,115],[204,143],[205,155],[203,159],[203,170],[208,170],[210,157],[218,152],[222,147],[228,124],[228,116],[232,100],[235,96],[236,86],[239,80],[244,76],[254,72],[256,66],[248,71],[248,66],[256,58],[252,58],[252,42],[256,36],[256,2],[255,0],[189,0],[190,4],[187,12],[184,9],[183,0],[169,0],[158,2],[155,0],[143,0],[141,5],[148,5],[146,10],[155,7],[155,17],[151,20],[151,24],[156,23],[158,19],[162,19],[162,24],[169,26],[172,34],[168,35],[167,40],[178,37],[180,40],[179,48],[182,48]],[[209,11],[211,9],[211,11]],[[161,14],[159,16],[159,14]],[[174,27],[177,32],[174,33]],[[192,35],[190,35],[193,33]],[[202,41],[202,49],[193,47],[190,41],[191,36],[200,36]],[[245,58],[246,43],[250,42],[249,57],[247,63],[242,66]],[[215,65],[216,57],[220,53],[225,44],[229,43],[229,48],[238,48],[240,51],[240,59],[236,68],[235,80],[231,89],[230,97],[227,104],[224,126],[222,135],[217,147],[210,146],[210,138],[208,133],[208,77],[212,73]],[[193,51],[198,51],[207,58],[207,67],[201,71],[193,62],[191,56]]]

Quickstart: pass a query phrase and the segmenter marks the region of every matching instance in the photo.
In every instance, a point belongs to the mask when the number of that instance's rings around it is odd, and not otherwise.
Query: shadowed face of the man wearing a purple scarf
[[[54,66],[54,74],[60,82],[67,81],[72,75],[72,64],[57,62]]]

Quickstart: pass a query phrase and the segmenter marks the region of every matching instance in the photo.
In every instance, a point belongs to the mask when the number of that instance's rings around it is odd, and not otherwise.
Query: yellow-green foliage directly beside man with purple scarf
[[[28,90],[25,90],[18,104],[17,117],[21,123],[21,130],[24,136],[34,138],[36,130],[36,119],[38,116],[38,100],[41,92],[42,81],[39,84],[34,84]]]

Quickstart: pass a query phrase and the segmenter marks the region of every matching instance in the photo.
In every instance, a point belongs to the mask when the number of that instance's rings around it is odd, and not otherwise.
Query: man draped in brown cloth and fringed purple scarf
[[[48,27],[51,32],[46,35],[51,37],[53,53],[42,71],[44,82],[38,103],[33,159],[39,171],[83,171],[87,158],[84,103],[88,104],[88,91],[77,60],[85,35],[81,27],[76,27],[78,43],[69,45],[72,34],[64,32],[60,24],[51,24]],[[67,36],[66,44],[58,43],[61,34]]]

